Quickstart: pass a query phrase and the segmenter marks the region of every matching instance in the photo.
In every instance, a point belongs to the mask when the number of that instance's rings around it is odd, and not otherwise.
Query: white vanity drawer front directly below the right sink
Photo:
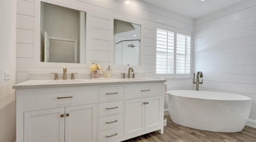
[[[162,95],[163,83],[141,83],[126,86],[125,99]]]

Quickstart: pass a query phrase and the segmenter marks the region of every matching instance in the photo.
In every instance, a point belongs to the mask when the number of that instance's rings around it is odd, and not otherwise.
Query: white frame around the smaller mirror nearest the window
[[[129,23],[133,23],[133,24],[137,24],[140,25],[140,65],[114,65],[114,55],[115,55],[115,43],[114,43],[114,19],[116,20],[121,20],[124,22],[129,22]],[[136,18],[134,18],[136,19]],[[110,65],[112,66],[113,69],[120,69],[120,71],[122,71],[123,69],[128,70],[129,67],[132,67],[135,69],[135,72],[138,72],[139,70],[141,70],[142,67],[142,48],[144,46],[143,42],[144,42],[144,34],[143,34],[143,23],[140,22],[139,20],[134,20],[134,19],[130,19],[130,18],[126,18],[126,17],[122,17],[122,16],[117,16],[117,15],[111,15],[111,19],[110,19],[110,47],[113,47],[110,50]],[[139,18],[138,18],[139,19]]]

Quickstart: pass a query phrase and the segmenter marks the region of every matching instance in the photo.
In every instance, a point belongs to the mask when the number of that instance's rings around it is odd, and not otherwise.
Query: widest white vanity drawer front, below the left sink
[[[96,87],[24,89],[24,110],[84,105],[97,101]]]

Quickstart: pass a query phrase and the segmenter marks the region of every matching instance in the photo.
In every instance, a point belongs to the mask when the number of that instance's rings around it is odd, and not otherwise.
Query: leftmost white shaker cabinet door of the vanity
[[[24,112],[24,142],[64,142],[65,108]]]

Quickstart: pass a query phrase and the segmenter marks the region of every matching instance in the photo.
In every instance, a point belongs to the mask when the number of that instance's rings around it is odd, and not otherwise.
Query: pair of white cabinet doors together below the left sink
[[[96,142],[96,104],[24,112],[24,142]]]

